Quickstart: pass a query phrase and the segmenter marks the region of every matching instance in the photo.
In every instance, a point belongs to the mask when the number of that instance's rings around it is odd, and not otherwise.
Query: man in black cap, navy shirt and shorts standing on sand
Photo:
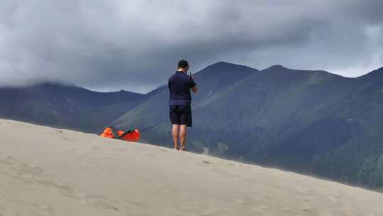
[[[197,91],[193,77],[187,75],[189,68],[189,63],[186,60],[180,60],[177,71],[169,78],[168,82],[170,91],[169,113],[170,121],[172,121],[174,148],[182,151],[187,151],[185,146],[187,126],[192,126],[190,90]],[[177,146],[178,139],[179,148]]]

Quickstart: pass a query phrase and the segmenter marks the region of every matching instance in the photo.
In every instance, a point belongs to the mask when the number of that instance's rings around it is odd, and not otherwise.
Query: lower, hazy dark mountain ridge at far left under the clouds
[[[126,91],[93,92],[58,82],[1,87],[0,117],[99,133],[147,98]]]

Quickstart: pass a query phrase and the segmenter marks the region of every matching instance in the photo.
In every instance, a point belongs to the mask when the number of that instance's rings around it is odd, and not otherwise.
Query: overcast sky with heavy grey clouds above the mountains
[[[148,92],[179,59],[347,77],[383,66],[382,0],[0,1],[0,85]]]

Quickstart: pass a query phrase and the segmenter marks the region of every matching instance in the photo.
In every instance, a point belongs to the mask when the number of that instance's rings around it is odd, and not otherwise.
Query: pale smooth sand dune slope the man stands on
[[[0,215],[383,215],[383,194],[0,120]]]

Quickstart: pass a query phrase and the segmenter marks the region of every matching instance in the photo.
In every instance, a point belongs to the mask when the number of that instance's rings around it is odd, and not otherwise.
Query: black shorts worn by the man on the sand
[[[192,126],[190,105],[170,105],[169,116],[172,124]]]

